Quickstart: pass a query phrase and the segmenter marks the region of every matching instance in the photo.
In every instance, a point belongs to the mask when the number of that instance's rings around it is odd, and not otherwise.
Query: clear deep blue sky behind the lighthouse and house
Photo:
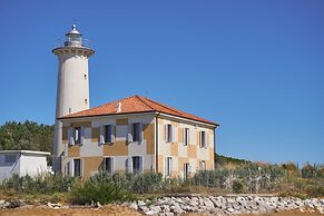
[[[217,121],[217,153],[324,163],[324,2],[0,0],[0,124],[53,124],[56,40],[92,40],[90,105],[143,95]]]

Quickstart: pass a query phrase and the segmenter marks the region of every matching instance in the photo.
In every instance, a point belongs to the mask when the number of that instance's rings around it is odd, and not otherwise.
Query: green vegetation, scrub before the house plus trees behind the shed
[[[9,121],[0,126],[0,149],[51,151],[53,126],[32,121]],[[161,174],[98,173],[87,180],[45,174],[13,176],[0,184],[0,198],[19,197],[63,200],[73,204],[132,200],[137,196],[174,193],[228,194],[262,193],[282,196],[324,196],[324,166],[294,163],[273,165],[215,155],[215,170],[203,170],[190,178],[163,178]]]

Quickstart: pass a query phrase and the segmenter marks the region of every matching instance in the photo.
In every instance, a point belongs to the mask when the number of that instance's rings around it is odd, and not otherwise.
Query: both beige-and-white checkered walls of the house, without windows
[[[128,143],[128,124],[143,122],[143,141]],[[206,168],[214,168],[214,128],[204,125],[194,125],[170,118],[158,118],[158,131],[156,131],[154,115],[136,115],[122,117],[98,117],[91,120],[66,121],[63,125],[62,143],[66,146],[67,158],[65,165],[73,158],[82,159],[82,173],[85,177],[98,171],[104,157],[111,157],[115,161],[115,170],[125,173],[126,165],[132,156],[143,157],[143,171],[157,170],[165,175],[166,157],[173,158],[173,177],[184,176],[184,164],[189,163],[192,174],[199,169],[199,161],[205,160]],[[115,126],[116,140],[112,144],[99,144],[100,126],[111,124]],[[165,140],[165,125],[175,127],[174,143]],[[85,129],[84,145],[68,145],[69,126],[82,127]],[[184,128],[189,128],[189,144],[184,145]],[[199,147],[199,131],[207,132],[207,147]],[[158,146],[156,145],[158,136]],[[156,148],[157,147],[157,148]]]

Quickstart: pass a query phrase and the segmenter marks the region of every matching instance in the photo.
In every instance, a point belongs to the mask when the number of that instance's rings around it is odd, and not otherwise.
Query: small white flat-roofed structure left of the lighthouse
[[[0,150],[0,181],[19,176],[36,176],[47,171],[47,159],[50,153],[32,150]]]

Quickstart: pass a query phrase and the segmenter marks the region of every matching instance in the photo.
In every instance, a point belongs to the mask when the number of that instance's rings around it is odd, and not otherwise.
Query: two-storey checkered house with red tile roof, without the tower
[[[218,125],[141,96],[59,119],[66,175],[158,171],[186,178],[214,168]]]

